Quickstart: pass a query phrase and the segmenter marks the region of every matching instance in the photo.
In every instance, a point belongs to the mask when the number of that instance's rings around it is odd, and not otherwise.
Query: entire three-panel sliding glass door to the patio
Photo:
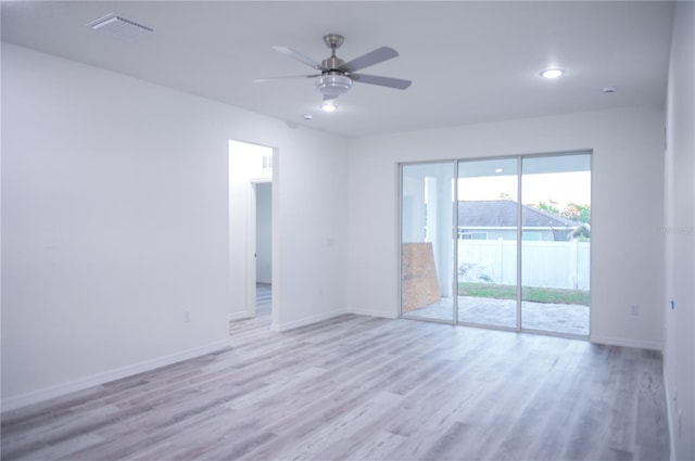
[[[589,335],[589,152],[401,165],[401,315]]]

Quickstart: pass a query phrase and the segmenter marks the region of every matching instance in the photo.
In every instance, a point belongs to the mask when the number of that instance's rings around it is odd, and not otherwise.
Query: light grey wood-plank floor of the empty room
[[[658,353],[345,315],[3,414],[2,460],[668,460]]]

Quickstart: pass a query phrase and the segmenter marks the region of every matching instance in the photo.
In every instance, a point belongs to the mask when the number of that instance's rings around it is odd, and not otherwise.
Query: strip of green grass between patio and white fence
[[[517,289],[514,285],[496,285],[494,283],[459,283],[459,296],[493,297],[496,299],[516,299]],[[584,290],[541,289],[523,286],[521,299],[547,304],[578,304],[589,306],[589,292]]]

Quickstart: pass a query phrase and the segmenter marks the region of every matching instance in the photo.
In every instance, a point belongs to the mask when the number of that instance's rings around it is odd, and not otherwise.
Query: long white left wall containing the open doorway
[[[340,312],[343,139],[2,44],[3,410],[229,344],[229,139],[281,158],[279,329]]]

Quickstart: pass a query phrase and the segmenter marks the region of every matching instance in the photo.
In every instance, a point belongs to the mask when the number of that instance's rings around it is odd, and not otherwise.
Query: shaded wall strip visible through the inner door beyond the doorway
[[[256,281],[273,282],[273,184],[256,185]]]

